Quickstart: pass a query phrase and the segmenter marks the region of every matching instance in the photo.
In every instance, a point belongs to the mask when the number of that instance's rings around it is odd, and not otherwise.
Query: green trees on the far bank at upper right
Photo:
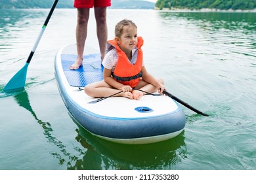
[[[163,8],[252,10],[256,8],[256,0],[158,0],[156,7],[160,10]]]

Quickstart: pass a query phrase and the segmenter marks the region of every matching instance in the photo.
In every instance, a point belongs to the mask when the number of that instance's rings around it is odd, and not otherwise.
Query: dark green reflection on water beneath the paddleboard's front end
[[[76,140],[87,152],[68,169],[175,169],[175,165],[186,158],[184,132],[168,141],[127,145],[99,139],[77,126]]]

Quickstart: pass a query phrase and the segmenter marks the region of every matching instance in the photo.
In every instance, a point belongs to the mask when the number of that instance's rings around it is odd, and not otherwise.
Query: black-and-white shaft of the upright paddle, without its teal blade
[[[51,7],[51,10],[50,10],[50,12],[49,12],[49,14],[48,14],[48,16],[47,16],[47,18],[45,20],[45,24],[43,24],[41,32],[39,33],[39,35],[37,37],[37,40],[35,41],[35,44],[33,45],[32,51],[30,52],[30,56],[28,56],[28,59],[27,59],[26,63],[30,63],[30,61],[31,61],[31,59],[33,57],[33,54],[35,53],[35,50],[36,50],[36,48],[37,48],[37,46],[39,44],[39,41],[41,40],[41,37],[43,36],[45,28],[47,27],[47,24],[48,24],[52,14],[53,14],[54,8],[56,7],[57,3],[58,3],[58,0],[55,0],[53,5],[52,5],[52,7]]]

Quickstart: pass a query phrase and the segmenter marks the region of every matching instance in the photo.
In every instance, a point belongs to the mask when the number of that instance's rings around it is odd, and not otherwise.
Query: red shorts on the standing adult
[[[111,0],[75,0],[75,8],[110,7]]]

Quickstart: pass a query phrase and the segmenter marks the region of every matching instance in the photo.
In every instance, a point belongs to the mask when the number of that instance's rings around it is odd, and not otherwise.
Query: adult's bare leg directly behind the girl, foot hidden
[[[95,20],[101,59],[103,59],[106,52],[106,41],[108,39],[108,27],[106,24],[106,7],[95,7]]]

